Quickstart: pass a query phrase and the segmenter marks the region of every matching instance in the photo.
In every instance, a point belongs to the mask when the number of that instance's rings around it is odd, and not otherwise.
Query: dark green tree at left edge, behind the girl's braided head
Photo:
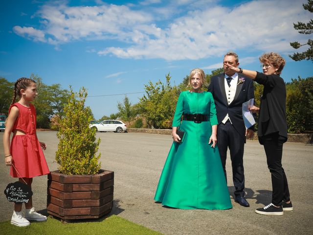
[[[8,114],[13,97],[14,83],[0,77],[0,113]]]

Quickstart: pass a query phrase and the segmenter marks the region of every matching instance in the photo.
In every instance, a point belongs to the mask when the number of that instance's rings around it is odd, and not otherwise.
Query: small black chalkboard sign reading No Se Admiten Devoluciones
[[[9,202],[15,202],[17,204],[27,203],[30,197],[33,195],[30,187],[23,184],[20,181],[10,183],[4,190],[4,194]]]

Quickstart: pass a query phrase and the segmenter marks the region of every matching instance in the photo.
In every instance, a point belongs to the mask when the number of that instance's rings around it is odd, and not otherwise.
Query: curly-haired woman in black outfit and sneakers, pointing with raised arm
[[[287,177],[282,167],[283,143],[287,141],[286,86],[281,74],[285,60],[279,54],[270,52],[260,57],[263,73],[229,66],[230,70],[242,73],[264,86],[260,108],[250,110],[259,113],[258,137],[264,145],[268,169],[272,179],[272,202],[256,209],[259,214],[282,215],[292,211]]]

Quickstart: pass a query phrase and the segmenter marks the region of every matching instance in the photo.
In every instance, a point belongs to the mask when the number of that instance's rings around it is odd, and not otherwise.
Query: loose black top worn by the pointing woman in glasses
[[[287,140],[286,85],[276,74],[257,72],[255,80],[264,85],[258,120],[258,136],[278,133]]]

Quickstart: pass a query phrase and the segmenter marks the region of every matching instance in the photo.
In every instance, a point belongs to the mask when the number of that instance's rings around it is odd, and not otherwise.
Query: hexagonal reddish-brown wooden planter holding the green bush
[[[58,170],[48,175],[47,211],[62,222],[96,219],[113,208],[114,172],[96,175],[65,175]]]

